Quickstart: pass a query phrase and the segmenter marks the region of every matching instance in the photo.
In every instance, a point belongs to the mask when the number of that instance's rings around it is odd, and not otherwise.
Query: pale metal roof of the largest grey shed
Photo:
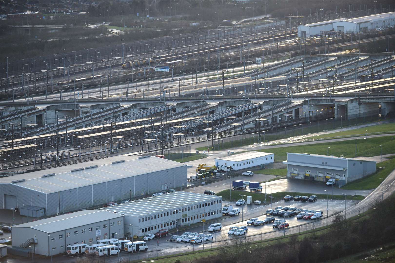
[[[121,162],[122,160],[124,162]],[[89,168],[96,165],[97,167]],[[144,158],[119,156],[9,176],[1,178],[0,183],[12,183],[25,179],[25,181],[13,184],[48,194],[182,166],[186,166],[186,164],[154,156]],[[55,173],[55,175],[41,177],[51,173]]]

